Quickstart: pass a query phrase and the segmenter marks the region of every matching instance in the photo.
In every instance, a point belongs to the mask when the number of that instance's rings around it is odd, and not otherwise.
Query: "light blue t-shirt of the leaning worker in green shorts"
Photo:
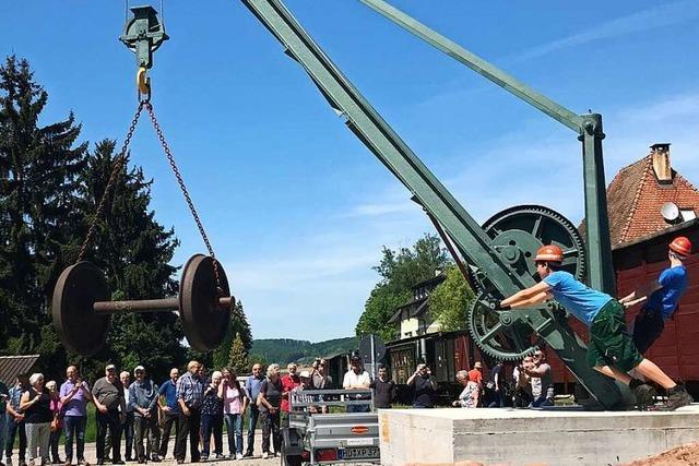
[[[556,271],[544,278],[544,283],[550,286],[554,299],[588,326],[592,326],[600,309],[612,300],[609,295],[589,288],[568,272]]]

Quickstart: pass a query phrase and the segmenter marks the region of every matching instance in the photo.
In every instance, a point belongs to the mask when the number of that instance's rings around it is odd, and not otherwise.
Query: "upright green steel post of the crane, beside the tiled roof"
[[[612,296],[616,296],[614,264],[612,263],[612,240],[609,238],[609,215],[607,191],[602,157],[602,116],[583,115],[582,165],[585,192],[585,241],[590,258],[588,284]]]

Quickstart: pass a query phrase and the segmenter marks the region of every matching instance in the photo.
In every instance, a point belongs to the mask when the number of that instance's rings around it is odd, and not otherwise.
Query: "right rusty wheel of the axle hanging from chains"
[[[200,351],[217,347],[223,342],[230,320],[230,307],[220,304],[221,296],[230,295],[226,273],[215,259],[196,254],[192,255],[185,268],[179,284],[179,315],[182,328],[190,346]],[[216,287],[216,273],[218,284]],[[230,306],[235,299],[230,299]]]

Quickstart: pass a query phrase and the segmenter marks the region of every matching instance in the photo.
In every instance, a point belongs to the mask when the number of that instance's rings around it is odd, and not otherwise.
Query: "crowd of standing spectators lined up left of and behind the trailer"
[[[305,387],[329,389],[331,381],[324,367],[325,361],[318,359],[312,372],[297,373],[296,365],[291,363],[288,373],[282,377],[279,365],[270,365],[263,373],[256,363],[252,374],[241,383],[233,370],[224,368],[208,375],[203,365],[190,361],[185,374],[180,377],[179,370],[173,368],[169,379],[159,386],[143,366],[137,366],[132,373],[118,373],[115,365],[107,365],[105,377],[92,387],[75,366],[66,370],[66,381],[60,385],[45,381],[42,373],[19,375],[9,390],[0,382],[0,399],[7,413],[0,416],[4,465],[13,466],[19,437],[17,466],[70,466],[73,459],[78,465],[90,466],[85,459],[88,403],[95,405],[97,465],[161,462],[167,456],[173,433],[171,454],[178,464],[185,462],[188,444],[192,463],[251,457],[258,425],[262,430],[262,458],[274,457],[281,451],[280,426],[282,416],[287,417],[289,410],[288,394]],[[59,452],[61,434],[63,459]]]

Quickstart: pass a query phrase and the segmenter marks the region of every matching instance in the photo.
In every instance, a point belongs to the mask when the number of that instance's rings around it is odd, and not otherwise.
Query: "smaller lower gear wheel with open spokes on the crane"
[[[469,332],[483,353],[499,360],[520,360],[534,353],[542,339],[520,315],[495,310],[495,302],[481,292],[469,309]]]

